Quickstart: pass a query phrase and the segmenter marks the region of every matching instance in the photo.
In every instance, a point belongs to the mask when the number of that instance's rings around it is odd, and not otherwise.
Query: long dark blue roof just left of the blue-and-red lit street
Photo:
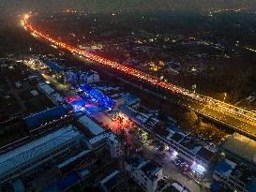
[[[35,129],[40,126],[44,122],[52,121],[53,119],[57,119],[62,115],[68,112],[68,108],[60,105],[54,108],[51,108],[46,111],[40,111],[38,113],[33,113],[24,118],[24,121],[30,129]]]

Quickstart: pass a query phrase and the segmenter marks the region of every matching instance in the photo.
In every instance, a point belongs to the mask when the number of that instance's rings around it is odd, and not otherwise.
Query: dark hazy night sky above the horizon
[[[28,10],[58,11],[74,8],[88,11],[110,12],[116,10],[161,10],[247,7],[256,10],[255,0],[0,0],[1,15],[22,14]]]

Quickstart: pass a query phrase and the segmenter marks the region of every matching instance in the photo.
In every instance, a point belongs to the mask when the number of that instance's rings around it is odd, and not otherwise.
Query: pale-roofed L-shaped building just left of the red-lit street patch
[[[121,144],[116,136],[111,131],[98,126],[86,115],[79,117],[76,125],[83,132],[84,143],[88,149],[94,150],[96,153],[107,150],[113,158],[123,155]]]

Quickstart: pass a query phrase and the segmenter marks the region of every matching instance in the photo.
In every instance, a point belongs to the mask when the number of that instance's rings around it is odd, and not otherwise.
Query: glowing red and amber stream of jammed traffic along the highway
[[[24,16],[23,18],[23,24],[24,27],[31,31],[33,34],[35,34],[38,37],[42,37],[45,40],[49,41],[53,46],[56,46],[58,48],[67,50],[69,52],[72,52],[73,54],[76,54],[78,56],[82,56],[84,59],[89,59],[91,61],[95,61],[98,64],[101,64],[103,66],[109,66],[113,69],[119,70],[125,74],[128,74],[130,76],[133,76],[141,81],[148,82],[152,85],[156,85],[162,89],[165,89],[167,91],[170,91],[174,94],[178,94],[181,96],[186,96],[188,98],[194,99],[195,101],[198,101],[202,103],[203,105],[207,106],[208,108],[221,112],[223,114],[228,114],[230,116],[233,116],[235,118],[239,118],[240,121],[246,122],[250,125],[256,125],[256,115],[254,112],[246,111],[244,109],[235,107],[233,105],[230,105],[228,103],[224,103],[223,101],[216,100],[214,98],[211,98],[209,96],[203,96],[198,93],[194,93],[192,91],[189,91],[187,89],[178,87],[176,85],[173,85],[172,83],[166,82],[166,81],[160,81],[157,77],[146,74],[140,70],[134,69],[129,66],[124,66],[122,64],[119,64],[117,62],[111,61],[109,59],[106,59],[104,57],[98,56],[91,52],[85,52],[83,50],[80,50],[78,48],[72,47],[66,43],[63,43],[61,41],[58,41],[56,39],[53,39],[52,37],[43,34],[42,32],[38,31],[34,28],[29,22],[28,22],[29,16]]]

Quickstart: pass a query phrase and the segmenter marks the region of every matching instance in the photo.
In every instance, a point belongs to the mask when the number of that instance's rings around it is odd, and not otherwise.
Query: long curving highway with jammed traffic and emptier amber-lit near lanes
[[[52,46],[64,49],[68,52],[72,52],[73,54],[81,56],[90,61],[94,61],[98,63],[98,65],[111,67],[115,70],[128,74],[129,76],[137,78],[140,81],[158,86],[163,90],[170,92],[171,94],[178,95],[181,98],[181,105],[191,109],[192,111],[197,111],[204,116],[214,119],[221,124],[230,126],[240,133],[256,138],[256,113],[254,112],[246,111],[209,96],[193,93],[170,82],[160,81],[157,77],[146,74],[140,70],[108,60],[91,52],[85,52],[76,47],[72,47],[67,43],[53,39],[49,35],[38,31],[29,22],[28,15],[23,18],[22,23],[23,27],[30,31],[33,37],[41,37],[48,41]]]

